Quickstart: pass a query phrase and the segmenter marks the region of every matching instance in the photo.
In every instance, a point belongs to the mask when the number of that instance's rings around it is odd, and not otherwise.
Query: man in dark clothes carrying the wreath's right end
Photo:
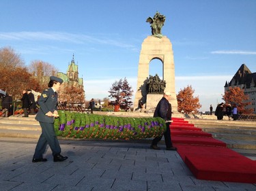
[[[162,99],[158,102],[156,106],[156,110],[154,112],[154,118],[160,117],[166,122],[167,130],[163,134],[165,137],[165,145],[166,150],[177,150],[176,147],[173,147],[173,143],[171,142],[171,104],[169,100],[171,99],[171,93],[165,92]],[[150,147],[154,150],[160,150],[160,147],[157,146],[157,143],[162,139],[162,135],[160,137],[155,137],[152,141],[152,145]]]

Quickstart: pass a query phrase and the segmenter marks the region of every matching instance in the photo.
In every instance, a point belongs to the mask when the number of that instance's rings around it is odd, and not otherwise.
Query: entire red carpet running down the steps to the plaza
[[[256,183],[256,161],[230,150],[226,143],[188,125],[182,118],[172,120],[173,144],[197,179]]]

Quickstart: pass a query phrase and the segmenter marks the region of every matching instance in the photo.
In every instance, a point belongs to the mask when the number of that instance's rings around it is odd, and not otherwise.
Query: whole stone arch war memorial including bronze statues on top
[[[141,44],[134,110],[139,108],[139,102],[141,101],[145,105],[145,111],[154,110],[158,101],[162,98],[163,92],[171,92],[172,110],[177,112],[173,49],[169,38],[162,35],[165,16],[156,12],[154,18],[149,17],[146,22],[150,22],[152,35],[145,38]],[[150,62],[154,59],[162,62],[162,73],[154,76],[158,78],[162,75],[162,80],[158,79],[159,82],[154,80],[154,77],[149,76]],[[152,84],[149,84],[150,80],[153,80],[153,83],[156,84],[155,87],[152,88]]]

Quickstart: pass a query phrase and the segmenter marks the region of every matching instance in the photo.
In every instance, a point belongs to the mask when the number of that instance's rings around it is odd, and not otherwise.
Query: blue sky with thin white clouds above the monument
[[[0,48],[63,73],[74,54],[87,100],[108,97],[124,77],[135,93],[141,44],[151,35],[145,20],[156,11],[166,16],[162,34],[173,45],[176,93],[191,85],[201,111],[222,101],[225,82],[243,63],[256,72],[254,0],[1,0],[0,7]],[[151,75],[161,70],[160,61],[150,63]]]

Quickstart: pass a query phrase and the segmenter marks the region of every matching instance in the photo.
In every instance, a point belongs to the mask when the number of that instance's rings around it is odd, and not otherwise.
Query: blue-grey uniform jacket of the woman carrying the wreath
[[[40,99],[38,99],[38,105],[40,105],[40,109],[38,114],[35,116],[35,120],[38,120],[39,122],[53,123],[54,117],[48,117],[45,114],[48,113],[48,111],[53,113],[55,110],[57,110],[57,100],[58,94],[55,94],[53,88],[44,90]]]

